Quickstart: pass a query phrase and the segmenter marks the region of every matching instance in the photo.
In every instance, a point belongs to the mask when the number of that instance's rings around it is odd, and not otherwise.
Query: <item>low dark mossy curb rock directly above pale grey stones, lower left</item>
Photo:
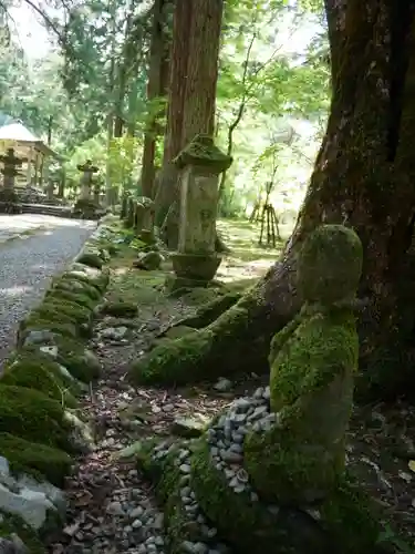
[[[0,433],[0,452],[8,460],[12,473],[43,476],[61,489],[74,463],[62,450],[4,432]]]

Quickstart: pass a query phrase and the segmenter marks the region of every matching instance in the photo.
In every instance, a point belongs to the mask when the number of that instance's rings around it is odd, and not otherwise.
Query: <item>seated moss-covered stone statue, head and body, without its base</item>
[[[345,464],[359,339],[355,295],[363,250],[342,225],[323,225],[298,259],[300,314],[272,342],[270,407],[277,424],[250,432],[245,465],[263,497],[302,505],[323,500]]]

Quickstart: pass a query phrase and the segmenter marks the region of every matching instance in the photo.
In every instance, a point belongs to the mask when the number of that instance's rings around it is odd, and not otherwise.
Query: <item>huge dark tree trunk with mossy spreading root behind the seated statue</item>
[[[295,258],[304,237],[321,223],[342,223],[357,232],[365,252],[357,392],[386,399],[414,390],[415,28],[404,1],[395,13],[388,4],[325,0],[331,112],[283,255],[208,328],[156,348],[135,368],[138,379],[186,382],[267,369],[272,335],[300,307]]]

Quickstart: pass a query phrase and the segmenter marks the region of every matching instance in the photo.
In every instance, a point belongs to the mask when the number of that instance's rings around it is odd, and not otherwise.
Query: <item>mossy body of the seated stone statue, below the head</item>
[[[343,471],[357,356],[349,310],[305,318],[277,356],[270,389],[279,424],[246,439],[247,469],[270,500],[310,502]]]

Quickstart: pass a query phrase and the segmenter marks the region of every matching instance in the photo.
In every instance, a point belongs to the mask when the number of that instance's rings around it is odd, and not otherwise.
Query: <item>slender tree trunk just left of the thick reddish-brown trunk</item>
[[[166,44],[166,8],[169,0],[155,0],[153,7],[153,30],[149,51],[147,101],[149,114],[144,134],[141,185],[142,193],[148,198],[154,196],[155,153],[160,134],[160,120],[164,109],[156,110],[154,103],[166,94],[166,73],[168,73],[169,48]]]

